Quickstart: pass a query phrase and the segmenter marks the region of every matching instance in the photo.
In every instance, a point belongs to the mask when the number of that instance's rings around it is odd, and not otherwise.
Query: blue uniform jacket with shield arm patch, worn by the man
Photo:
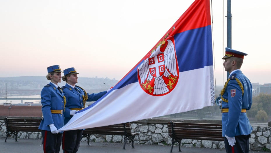
[[[252,85],[242,71],[235,71],[225,83],[221,91],[222,109],[228,108],[228,112],[222,113],[222,136],[228,137],[248,135],[252,127],[246,112],[252,104]]]

